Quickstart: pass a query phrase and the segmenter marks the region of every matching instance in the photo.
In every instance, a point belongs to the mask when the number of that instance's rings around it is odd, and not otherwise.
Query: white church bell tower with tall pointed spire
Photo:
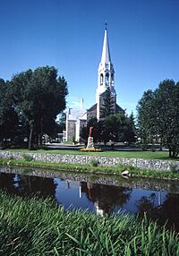
[[[100,119],[100,108],[103,106],[106,90],[109,88],[114,99],[114,111],[116,105],[116,92],[115,92],[115,70],[111,62],[109,52],[109,44],[107,38],[107,22],[103,41],[103,50],[101,61],[98,65],[98,88],[96,92],[97,102],[97,119]]]

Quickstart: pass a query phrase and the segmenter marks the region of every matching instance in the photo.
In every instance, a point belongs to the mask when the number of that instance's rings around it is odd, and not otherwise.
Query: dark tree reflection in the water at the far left
[[[56,183],[50,178],[0,173],[0,189],[13,194],[55,198],[55,188]]]

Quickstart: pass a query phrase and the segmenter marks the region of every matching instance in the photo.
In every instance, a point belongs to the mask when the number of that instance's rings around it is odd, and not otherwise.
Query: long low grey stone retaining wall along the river
[[[0,151],[0,158],[23,159],[24,153]],[[25,153],[32,157],[35,161],[44,161],[47,163],[66,163],[66,164],[90,164],[92,159],[98,161],[99,166],[117,166],[129,165],[142,169],[150,170],[170,170],[171,165],[179,168],[179,161],[166,161],[157,159],[142,159],[142,158],[107,158],[107,157],[92,157],[79,155],[57,155],[57,154],[40,154],[40,153]]]

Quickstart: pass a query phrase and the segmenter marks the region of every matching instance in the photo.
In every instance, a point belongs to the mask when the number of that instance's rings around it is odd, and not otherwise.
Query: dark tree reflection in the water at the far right
[[[155,206],[154,201],[158,199],[157,193],[152,193],[149,197],[143,196],[137,202],[138,214],[143,217],[144,212],[147,213],[148,218],[157,220],[158,224],[167,227],[173,227],[179,231],[179,194],[168,193],[166,201],[161,205]]]

